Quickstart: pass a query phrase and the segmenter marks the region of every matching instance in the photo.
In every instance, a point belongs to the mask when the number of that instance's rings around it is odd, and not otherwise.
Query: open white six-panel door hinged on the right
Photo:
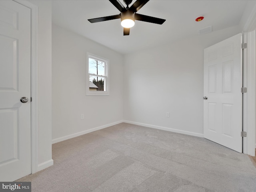
[[[242,34],[204,49],[204,138],[242,152]]]

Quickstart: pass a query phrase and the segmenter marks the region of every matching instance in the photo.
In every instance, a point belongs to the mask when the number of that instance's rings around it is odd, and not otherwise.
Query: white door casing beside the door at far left
[[[14,0],[31,9],[31,173],[38,171],[38,6]]]

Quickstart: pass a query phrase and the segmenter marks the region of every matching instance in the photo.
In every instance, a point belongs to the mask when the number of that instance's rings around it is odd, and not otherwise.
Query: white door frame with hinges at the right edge
[[[243,128],[247,132],[247,137],[243,140],[243,151],[245,154],[255,156],[256,148],[256,4],[251,8],[250,15],[246,20],[242,31],[244,32],[244,43],[247,43],[247,48],[244,49],[244,87],[247,87],[248,92],[244,94],[244,117]]]

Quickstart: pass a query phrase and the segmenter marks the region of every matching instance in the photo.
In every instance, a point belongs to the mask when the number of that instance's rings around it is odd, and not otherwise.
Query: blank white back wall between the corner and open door
[[[204,48],[239,32],[226,28],[126,55],[124,120],[202,136]]]

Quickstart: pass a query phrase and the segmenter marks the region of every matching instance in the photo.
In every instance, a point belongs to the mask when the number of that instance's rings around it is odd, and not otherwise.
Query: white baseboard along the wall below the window
[[[110,126],[113,126],[113,125],[116,125],[116,124],[119,124],[119,123],[122,123],[122,122],[124,122],[124,121],[120,120],[120,121],[117,121],[117,122],[114,122],[114,123],[106,124],[106,125],[103,125],[103,126],[91,128],[91,129],[81,131],[81,132],[78,132],[78,133],[70,134],[70,135],[67,135],[67,136],[64,136],[64,137],[56,138],[56,139],[52,140],[52,144],[58,143],[58,142],[61,142],[61,141],[67,140],[67,139],[71,139],[71,138],[74,138],[74,137],[77,137],[77,136],[80,136],[80,135],[84,135],[84,134],[87,134],[87,133],[90,133],[90,132],[98,131],[100,129],[104,129],[104,128],[107,128],[107,127],[110,127]]]

